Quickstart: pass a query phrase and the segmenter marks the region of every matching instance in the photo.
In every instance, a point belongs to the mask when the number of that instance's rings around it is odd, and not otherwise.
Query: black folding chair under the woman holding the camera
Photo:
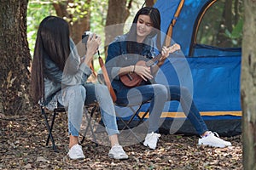
[[[90,111],[90,117],[88,116],[87,112],[85,113],[85,118],[86,118],[86,120],[88,121],[88,124],[87,124],[87,126],[86,126],[86,128],[85,128],[85,131],[84,131],[84,134],[83,134],[83,139],[82,139],[81,142],[80,142],[81,144],[84,142],[86,133],[88,132],[89,128],[90,128],[90,133],[92,134],[92,137],[93,137],[94,141],[96,142],[96,136],[95,136],[95,134],[94,134],[93,127],[92,127],[92,125],[91,125],[90,122],[91,122],[91,117],[92,117],[92,116],[95,114],[95,112],[97,111],[98,105],[97,105],[97,103],[95,103],[95,104],[92,104],[91,106],[92,106],[93,108],[92,108],[92,110]],[[40,108],[41,108],[41,113],[42,113],[43,116],[44,116],[44,122],[45,122],[46,128],[47,128],[47,130],[48,130],[48,138],[47,138],[47,140],[46,140],[46,144],[45,144],[45,145],[47,146],[47,145],[49,144],[49,139],[50,139],[50,141],[51,141],[51,143],[52,143],[53,149],[55,150],[55,152],[58,152],[57,147],[56,147],[56,145],[55,145],[55,139],[54,139],[54,137],[53,137],[52,130],[53,130],[53,127],[54,127],[56,114],[57,114],[57,113],[66,113],[66,110],[65,110],[64,106],[58,105],[58,107],[55,108],[55,110],[54,110],[53,113],[52,113],[52,118],[51,118],[51,122],[50,122],[50,126],[49,126],[49,119],[48,119],[48,116],[47,116],[47,113],[46,113],[46,110],[47,110],[47,109],[46,109],[44,106],[42,106],[42,105],[40,105]],[[52,111],[49,111],[49,110],[47,110],[47,111],[48,111],[48,112],[52,112]],[[96,144],[96,146],[97,146],[97,144]]]

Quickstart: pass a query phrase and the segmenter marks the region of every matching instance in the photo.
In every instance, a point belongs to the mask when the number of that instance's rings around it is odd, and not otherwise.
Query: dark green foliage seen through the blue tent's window
[[[219,0],[207,10],[203,20],[201,20],[196,42],[221,48],[241,47],[242,2],[241,0],[232,1],[230,14],[225,14],[226,3],[228,2]]]

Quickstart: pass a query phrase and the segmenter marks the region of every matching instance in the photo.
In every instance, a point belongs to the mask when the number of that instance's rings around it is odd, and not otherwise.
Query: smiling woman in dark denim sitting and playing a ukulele
[[[141,8],[133,20],[130,31],[116,37],[110,43],[106,59],[106,67],[116,92],[117,104],[131,105],[150,101],[148,134],[143,144],[152,150],[156,148],[160,138],[157,131],[164,105],[166,101],[177,100],[197,133],[201,135],[198,144],[216,147],[231,145],[230,142],[219,139],[208,130],[187,88],[154,82],[154,75],[164,64],[169,53],[180,48],[177,44],[170,48],[161,47],[160,39],[159,10]],[[158,59],[154,60],[154,56]],[[137,79],[140,79],[140,82],[134,83]]]

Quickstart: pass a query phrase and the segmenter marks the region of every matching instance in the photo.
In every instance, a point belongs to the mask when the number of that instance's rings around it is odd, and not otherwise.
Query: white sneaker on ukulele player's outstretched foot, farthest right
[[[224,148],[226,146],[232,145],[230,142],[220,139],[218,133],[212,132],[209,132],[206,137],[202,137],[201,139],[199,139],[198,144],[209,145],[219,148]]]

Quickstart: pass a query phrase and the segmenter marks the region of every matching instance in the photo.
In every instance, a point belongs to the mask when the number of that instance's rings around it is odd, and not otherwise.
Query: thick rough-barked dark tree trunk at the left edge
[[[0,112],[24,113],[29,106],[31,56],[26,40],[27,0],[0,0]]]

